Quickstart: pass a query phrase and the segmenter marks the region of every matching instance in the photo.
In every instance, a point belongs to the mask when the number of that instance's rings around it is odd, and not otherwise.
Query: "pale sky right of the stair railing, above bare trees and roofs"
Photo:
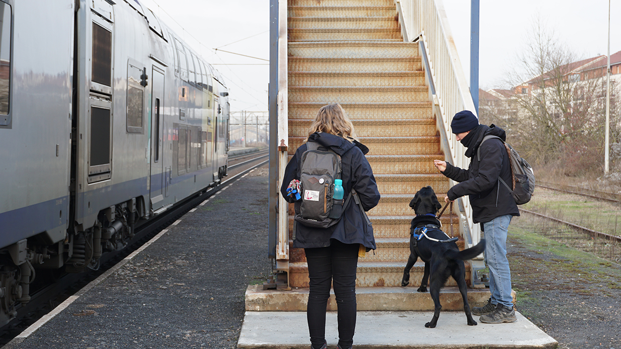
[[[468,0],[443,0],[466,79],[470,79]],[[607,55],[609,0],[480,0],[479,88],[508,88],[505,76],[528,47],[537,17],[579,59]],[[610,55],[621,51],[621,0],[610,1]]]

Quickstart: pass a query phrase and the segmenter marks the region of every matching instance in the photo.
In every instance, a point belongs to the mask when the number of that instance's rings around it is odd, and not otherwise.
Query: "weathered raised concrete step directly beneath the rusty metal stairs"
[[[418,287],[369,287],[356,288],[358,311],[361,310],[433,310],[429,292],[417,292]],[[309,289],[280,291],[263,290],[261,285],[246,289],[247,311],[306,311]],[[468,303],[471,307],[483,306],[489,298],[489,289],[468,289]],[[334,291],[330,289],[328,310],[337,310]],[[442,288],[440,304],[444,310],[463,310],[461,293],[456,287]]]

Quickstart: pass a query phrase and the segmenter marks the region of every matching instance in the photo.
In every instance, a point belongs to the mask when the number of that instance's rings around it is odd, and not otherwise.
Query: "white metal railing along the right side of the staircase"
[[[442,0],[395,0],[395,4],[404,39],[418,41],[424,48],[420,51],[425,55],[429,82],[435,87],[434,109],[446,160],[460,168],[468,168],[470,159],[464,155],[465,148],[456,140],[450,124],[456,112],[469,110],[476,115],[476,111]],[[476,244],[481,240],[481,229],[472,222],[468,197],[461,199],[461,214],[465,215],[461,219],[462,229],[471,237],[471,241],[466,239],[468,244]]]

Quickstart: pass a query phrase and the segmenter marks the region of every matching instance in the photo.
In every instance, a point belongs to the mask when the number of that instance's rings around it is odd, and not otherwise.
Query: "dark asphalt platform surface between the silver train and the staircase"
[[[23,340],[2,349],[235,348],[248,284],[271,273],[257,169]]]

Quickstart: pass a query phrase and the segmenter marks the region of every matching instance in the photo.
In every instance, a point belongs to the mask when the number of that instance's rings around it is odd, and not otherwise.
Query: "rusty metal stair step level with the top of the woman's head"
[[[433,118],[431,102],[340,103],[350,119],[427,119]],[[315,119],[325,103],[288,103],[289,119]],[[435,119],[433,119],[435,120]]]

